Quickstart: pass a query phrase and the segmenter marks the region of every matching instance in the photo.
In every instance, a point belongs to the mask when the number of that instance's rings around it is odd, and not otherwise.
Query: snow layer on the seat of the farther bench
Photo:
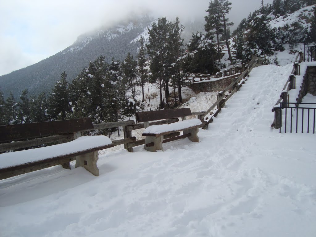
[[[200,119],[189,119],[180,121],[173,124],[162,124],[162,125],[151,125],[145,129],[143,133],[154,133],[159,134],[168,131],[181,131],[189,127],[193,127],[196,125],[201,125],[202,122]]]

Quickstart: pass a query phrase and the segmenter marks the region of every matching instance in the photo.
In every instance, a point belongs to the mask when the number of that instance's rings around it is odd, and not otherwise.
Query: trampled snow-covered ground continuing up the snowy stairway
[[[253,69],[200,143],[0,181],[0,235],[315,236],[315,135],[270,128],[291,69]]]

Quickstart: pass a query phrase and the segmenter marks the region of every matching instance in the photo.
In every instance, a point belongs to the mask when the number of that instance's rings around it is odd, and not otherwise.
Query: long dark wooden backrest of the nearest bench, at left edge
[[[0,143],[93,129],[91,118],[0,126]]]

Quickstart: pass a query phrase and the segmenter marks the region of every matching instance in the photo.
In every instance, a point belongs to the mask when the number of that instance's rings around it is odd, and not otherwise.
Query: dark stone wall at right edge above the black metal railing
[[[300,92],[298,97],[296,98],[297,103],[301,103],[303,97],[310,93],[312,95],[316,95],[316,66],[309,66],[307,67],[306,73],[303,76],[303,82],[301,85]]]

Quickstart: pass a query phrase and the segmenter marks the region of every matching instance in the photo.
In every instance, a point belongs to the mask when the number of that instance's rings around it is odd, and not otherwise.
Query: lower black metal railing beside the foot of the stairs
[[[290,106],[294,105],[294,106]],[[304,107],[299,107],[304,105]],[[280,113],[280,133],[282,124],[284,121],[284,132],[287,131],[298,133],[301,131],[307,131],[307,133],[315,133],[315,113],[316,113],[316,103],[284,103],[280,102],[281,108],[283,108]],[[312,107],[313,106],[313,107]],[[283,112],[285,113],[283,120]],[[294,128],[293,128],[294,122]]]

